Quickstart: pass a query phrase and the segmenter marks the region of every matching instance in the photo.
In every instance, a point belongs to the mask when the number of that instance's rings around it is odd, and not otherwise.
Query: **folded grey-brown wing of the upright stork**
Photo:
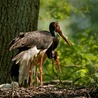
[[[53,37],[48,31],[33,31],[20,34],[12,40],[9,45],[9,51],[17,48],[46,49],[53,43]]]

